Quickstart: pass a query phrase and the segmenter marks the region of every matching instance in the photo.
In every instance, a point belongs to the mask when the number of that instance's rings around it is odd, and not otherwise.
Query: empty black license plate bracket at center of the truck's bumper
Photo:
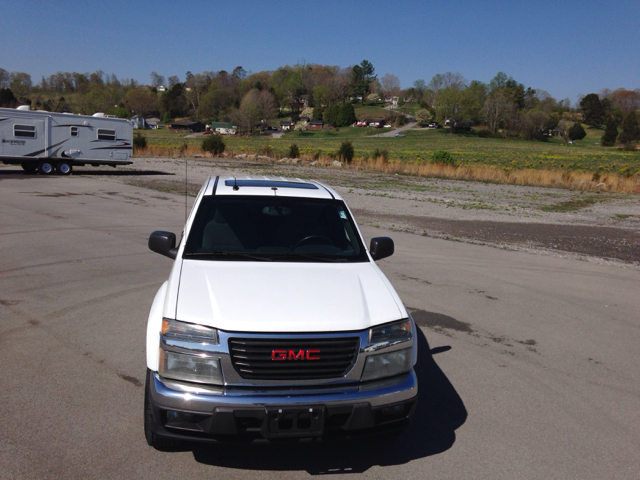
[[[266,438],[319,437],[324,433],[324,405],[267,407]]]

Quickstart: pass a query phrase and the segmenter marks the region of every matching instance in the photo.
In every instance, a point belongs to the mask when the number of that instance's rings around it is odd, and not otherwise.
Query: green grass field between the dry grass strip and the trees
[[[435,150],[451,152],[461,166],[487,165],[505,169],[565,169],[573,171],[602,171],[627,174],[640,173],[640,151],[628,152],[599,145],[601,130],[587,129],[587,137],[575,145],[565,145],[561,138],[549,142],[479,138],[457,135],[446,130],[409,130],[406,137],[378,138],[382,129],[356,127],[339,131],[291,132],[280,139],[271,137],[224,137],[228,151],[269,153],[286,156],[292,143],[302,155],[332,156],[340,144],[353,143],[356,157],[371,158],[375,150],[387,150],[392,162],[426,163]],[[384,129],[386,131],[386,129]],[[167,130],[145,131],[148,145],[179,148],[183,144],[199,147],[202,139],[187,139],[183,134]],[[626,169],[626,170],[625,170]]]

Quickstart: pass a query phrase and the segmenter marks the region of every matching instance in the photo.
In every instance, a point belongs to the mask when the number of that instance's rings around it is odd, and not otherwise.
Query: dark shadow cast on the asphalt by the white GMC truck
[[[362,473],[442,453],[454,444],[455,430],[467,418],[462,399],[433,360],[427,339],[418,329],[416,373],[419,401],[411,426],[397,437],[333,442],[269,444],[190,444],[196,461],[242,470],[306,471],[311,475]],[[184,449],[183,449],[184,451]]]

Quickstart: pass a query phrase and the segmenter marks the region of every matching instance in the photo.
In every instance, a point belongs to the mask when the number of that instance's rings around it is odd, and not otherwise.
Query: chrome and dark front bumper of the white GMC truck
[[[150,373],[149,387],[154,433],[200,441],[245,435],[267,439],[349,435],[397,428],[408,422],[418,395],[413,370],[365,384],[299,388],[194,386]],[[313,435],[304,429],[274,434],[269,426],[274,412],[304,415],[306,411],[321,412]]]

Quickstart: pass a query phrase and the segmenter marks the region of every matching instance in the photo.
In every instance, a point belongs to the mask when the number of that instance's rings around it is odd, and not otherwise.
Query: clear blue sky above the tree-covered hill
[[[347,67],[369,60],[402,88],[436,73],[498,71],[575,102],[640,88],[640,1],[8,1],[0,68],[35,82],[103,70],[149,83],[204,70]]]

